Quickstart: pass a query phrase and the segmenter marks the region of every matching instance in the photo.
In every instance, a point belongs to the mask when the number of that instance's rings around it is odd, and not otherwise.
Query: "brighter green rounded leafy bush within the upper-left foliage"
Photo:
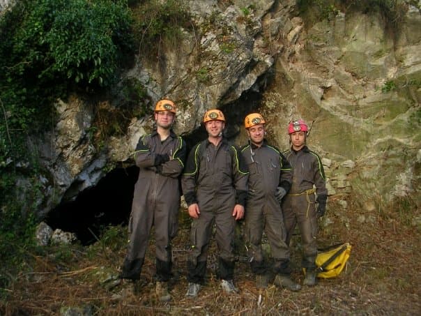
[[[114,1],[72,0],[56,16],[43,42],[54,61],[53,72],[76,83],[109,86],[121,54],[130,51],[128,10]]]

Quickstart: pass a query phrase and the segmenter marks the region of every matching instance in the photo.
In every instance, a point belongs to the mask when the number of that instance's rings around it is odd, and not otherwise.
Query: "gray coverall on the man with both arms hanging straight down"
[[[234,206],[245,206],[247,197],[247,165],[235,146],[227,140],[214,146],[208,140],[190,151],[182,176],[187,205],[199,204],[199,218],[193,218],[190,232],[191,251],[187,261],[187,280],[204,283],[206,259],[213,225],[219,249],[218,276],[234,277]]]

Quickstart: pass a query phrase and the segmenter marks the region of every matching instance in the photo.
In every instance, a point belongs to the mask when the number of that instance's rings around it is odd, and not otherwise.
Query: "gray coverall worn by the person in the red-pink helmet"
[[[286,244],[289,245],[293,230],[298,224],[303,243],[302,267],[312,270],[316,268],[318,232],[317,202],[326,204],[328,190],[326,177],[320,157],[304,146],[299,151],[290,149],[284,156],[293,167],[293,181],[288,195],[282,200],[284,224],[286,228]],[[313,186],[316,187],[314,190]]]

